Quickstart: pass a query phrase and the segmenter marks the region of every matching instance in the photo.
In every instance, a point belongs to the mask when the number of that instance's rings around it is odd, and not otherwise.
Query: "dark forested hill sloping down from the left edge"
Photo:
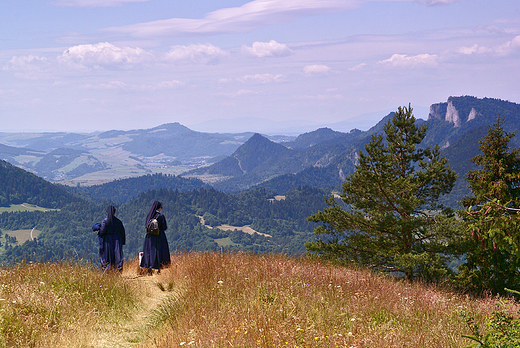
[[[0,160],[0,207],[30,203],[56,209],[77,201],[65,187]]]

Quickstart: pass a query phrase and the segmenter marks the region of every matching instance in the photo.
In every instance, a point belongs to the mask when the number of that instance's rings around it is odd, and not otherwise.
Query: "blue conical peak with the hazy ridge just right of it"
[[[238,192],[247,190],[251,187],[262,185],[263,183],[275,180],[277,184],[265,187],[282,187],[287,191],[300,185],[311,185],[315,187],[330,187],[341,182],[341,172],[345,168],[352,167],[353,156],[342,156],[342,153],[351,152],[353,144],[358,144],[366,138],[366,134],[359,130],[350,133],[334,132],[333,136],[321,136],[323,133],[331,134],[327,130],[317,130],[307,133],[297,142],[297,147],[307,144],[303,148],[287,148],[294,145],[292,143],[276,144],[260,134],[256,134],[242,146],[240,146],[231,156],[217,162],[209,167],[203,167],[181,174],[185,177],[203,178],[208,174],[220,177],[221,180],[212,183],[212,186],[226,192]],[[334,174],[315,176],[318,172],[312,168],[328,167],[338,162]],[[247,170],[241,167],[245,164]],[[307,172],[310,170],[310,174]],[[303,173],[305,172],[305,173]],[[302,175],[298,175],[303,173]],[[329,173],[330,174],[330,173]],[[231,178],[229,178],[231,176]],[[280,178],[280,176],[283,176]],[[287,185],[281,182],[283,178],[289,178],[295,185]],[[294,176],[306,177],[306,180],[296,179]],[[223,180],[222,180],[223,179]],[[286,191],[278,191],[280,193]]]

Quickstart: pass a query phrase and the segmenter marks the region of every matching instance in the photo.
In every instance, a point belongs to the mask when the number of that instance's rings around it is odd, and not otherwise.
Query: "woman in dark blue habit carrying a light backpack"
[[[146,234],[143,244],[143,257],[141,258],[140,266],[148,269],[148,273],[151,274],[153,269],[160,272],[161,268],[170,265],[170,248],[168,246],[168,240],[164,231],[168,228],[166,225],[166,218],[161,214],[162,203],[159,201],[153,202],[152,208],[146,216],[145,227],[148,225],[148,221],[152,218],[156,218],[159,224],[159,234]]]

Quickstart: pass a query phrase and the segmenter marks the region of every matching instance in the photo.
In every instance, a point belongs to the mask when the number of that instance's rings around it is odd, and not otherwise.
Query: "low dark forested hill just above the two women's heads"
[[[198,179],[186,179],[159,173],[114,180],[102,185],[77,188],[77,190],[88,194],[98,202],[126,203],[141,193],[152,189],[191,191],[209,187],[209,185]]]

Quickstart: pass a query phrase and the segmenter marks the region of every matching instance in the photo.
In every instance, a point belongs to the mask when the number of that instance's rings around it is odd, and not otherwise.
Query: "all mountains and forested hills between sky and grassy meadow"
[[[154,200],[164,203],[172,250],[301,253],[304,243],[314,239],[315,226],[307,217],[324,209],[324,196],[341,190],[341,182],[355,169],[359,152],[372,135],[383,132],[392,115],[368,131],[320,128],[298,137],[205,135],[179,124],[76,137],[65,133],[0,134],[0,139],[9,139],[0,146],[2,157],[15,162],[0,160],[0,228],[41,231],[34,241],[5,245],[0,262],[29,256],[33,260],[93,259],[97,246],[90,226],[103,219],[106,204],[117,205],[127,229],[125,253],[135,256],[141,250],[144,216]],[[431,106],[428,120],[416,121],[428,124],[422,146],[439,144],[459,173],[452,193],[441,203],[456,208],[457,201],[468,193],[464,180],[472,168],[468,159],[478,154],[479,141],[497,116],[504,119],[506,131],[520,128],[519,104],[489,98],[450,97]],[[184,145],[172,149],[177,141]],[[511,145],[518,146],[518,141],[513,138]],[[226,147],[231,142],[233,146]],[[209,156],[205,144],[220,148],[222,154]],[[182,162],[176,157],[182,146],[211,161]],[[97,176],[98,181],[110,182],[65,187],[18,167],[65,176],[84,170],[87,173],[76,179]],[[169,170],[179,173],[163,173]],[[122,179],[124,175],[128,178]],[[13,205],[24,203],[53,211],[9,212]]]

